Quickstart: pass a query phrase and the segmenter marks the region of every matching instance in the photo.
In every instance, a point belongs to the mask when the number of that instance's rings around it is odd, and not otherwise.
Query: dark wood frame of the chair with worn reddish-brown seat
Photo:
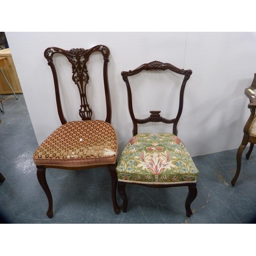
[[[55,87],[55,95],[56,95],[56,103],[57,103],[57,110],[59,119],[61,124],[67,123],[67,119],[65,118],[62,107],[61,107],[61,99],[59,93],[59,82],[57,77],[56,68],[54,65],[53,57],[57,54],[61,54],[66,56],[69,62],[71,63],[72,67],[72,80],[77,85],[80,95],[80,109],[79,115],[81,120],[91,120],[92,119],[92,109],[90,108],[88,96],[87,96],[87,84],[89,83],[89,73],[87,68],[87,62],[89,57],[94,52],[100,52],[103,56],[103,83],[104,83],[104,92],[105,92],[105,101],[106,101],[106,118],[105,121],[111,123],[111,99],[110,99],[110,90],[109,90],[109,80],[108,80],[108,62],[109,62],[109,55],[110,50],[108,47],[103,45],[95,46],[89,50],[84,50],[83,48],[76,48],[71,49],[69,51],[57,48],[57,47],[49,47],[45,50],[45,58],[48,60],[48,65],[51,67],[53,80],[54,80],[54,87]],[[37,166],[37,178],[38,181],[44,189],[49,207],[47,211],[47,216],[49,218],[53,217],[53,200],[50,188],[46,181],[46,168],[53,166]],[[83,166],[83,167],[65,167],[65,169],[69,170],[77,170],[77,169],[87,169],[87,168],[94,168],[94,167],[108,167],[110,175],[111,175],[111,194],[112,194],[112,202],[115,214],[118,214],[120,208],[116,201],[116,189],[117,189],[117,174],[115,171],[116,164],[105,164],[105,165],[95,165],[95,166]],[[54,166],[54,168],[64,169],[61,166]]]

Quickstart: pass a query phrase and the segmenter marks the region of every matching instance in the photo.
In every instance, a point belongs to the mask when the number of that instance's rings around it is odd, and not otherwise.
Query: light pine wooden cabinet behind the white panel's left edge
[[[11,84],[11,87],[15,93],[22,93],[22,88],[20,87],[18,75],[14,66],[12,59],[12,54],[9,48],[0,51],[0,57],[6,57],[5,66],[1,67],[1,70],[5,74],[7,80]],[[0,72],[0,94],[12,94],[8,83]]]

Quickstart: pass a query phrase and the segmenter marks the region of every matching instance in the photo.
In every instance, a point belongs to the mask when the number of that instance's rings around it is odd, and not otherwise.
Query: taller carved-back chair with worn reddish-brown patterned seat
[[[103,82],[106,118],[102,120],[92,120],[93,111],[90,108],[87,96],[87,85],[89,83],[89,72],[87,62],[92,53],[102,54],[103,62]],[[89,50],[71,49],[65,51],[57,47],[50,47],[45,50],[45,58],[51,67],[58,115],[61,126],[58,127],[42,144],[33,155],[33,160],[37,167],[37,178],[48,198],[49,208],[47,216],[53,216],[53,201],[51,191],[46,181],[46,168],[58,169],[87,169],[93,167],[106,166],[109,169],[112,180],[112,201],[116,214],[120,211],[116,201],[116,157],[117,157],[117,137],[111,123],[111,101],[108,82],[108,62],[110,50],[103,45],[95,46]],[[68,58],[72,67],[72,80],[78,87],[80,94],[80,121],[69,121],[63,115],[57,72],[55,69],[55,55],[62,55]],[[56,63],[55,63],[56,64]],[[63,101],[64,102],[64,101]]]

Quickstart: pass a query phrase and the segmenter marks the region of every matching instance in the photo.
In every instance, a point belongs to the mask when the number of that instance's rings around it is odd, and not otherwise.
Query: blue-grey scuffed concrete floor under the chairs
[[[53,196],[53,218],[36,177],[32,155],[38,144],[23,94],[1,95],[0,212],[8,223],[254,223],[256,217],[256,150],[243,155],[236,186],[237,150],[194,157],[199,169],[198,196],[185,215],[186,187],[148,188],[127,185],[127,212],[114,214],[111,179],[106,168],[80,171],[47,169]],[[241,131],[241,139],[242,139]],[[239,146],[239,145],[238,145]],[[118,197],[118,203],[121,200]]]

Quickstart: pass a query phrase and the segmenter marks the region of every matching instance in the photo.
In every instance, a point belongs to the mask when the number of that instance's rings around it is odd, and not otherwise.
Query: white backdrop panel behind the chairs
[[[52,46],[89,49],[96,45],[106,45],[111,51],[112,125],[118,136],[119,156],[132,136],[126,88],[120,73],[153,60],[193,70],[178,127],[178,136],[191,156],[237,148],[242,141],[243,126],[249,117],[244,89],[250,86],[256,72],[254,32],[6,32],[6,36],[38,143],[60,125],[45,49]],[[89,87],[93,95],[100,86],[95,78],[96,82]],[[64,96],[65,113],[70,121],[79,119],[80,103],[75,99],[75,88],[68,85],[69,79],[63,80],[63,88],[66,92],[72,89],[70,100]],[[148,111],[161,110],[164,116],[169,101],[164,102],[162,97],[168,98],[169,93],[161,82],[148,82],[140,103],[143,109],[148,105]],[[155,91],[161,96],[156,97]],[[89,102],[98,119],[104,116],[100,114],[101,106],[104,108],[101,97],[93,96]],[[150,131],[153,127],[154,123],[146,129]]]

